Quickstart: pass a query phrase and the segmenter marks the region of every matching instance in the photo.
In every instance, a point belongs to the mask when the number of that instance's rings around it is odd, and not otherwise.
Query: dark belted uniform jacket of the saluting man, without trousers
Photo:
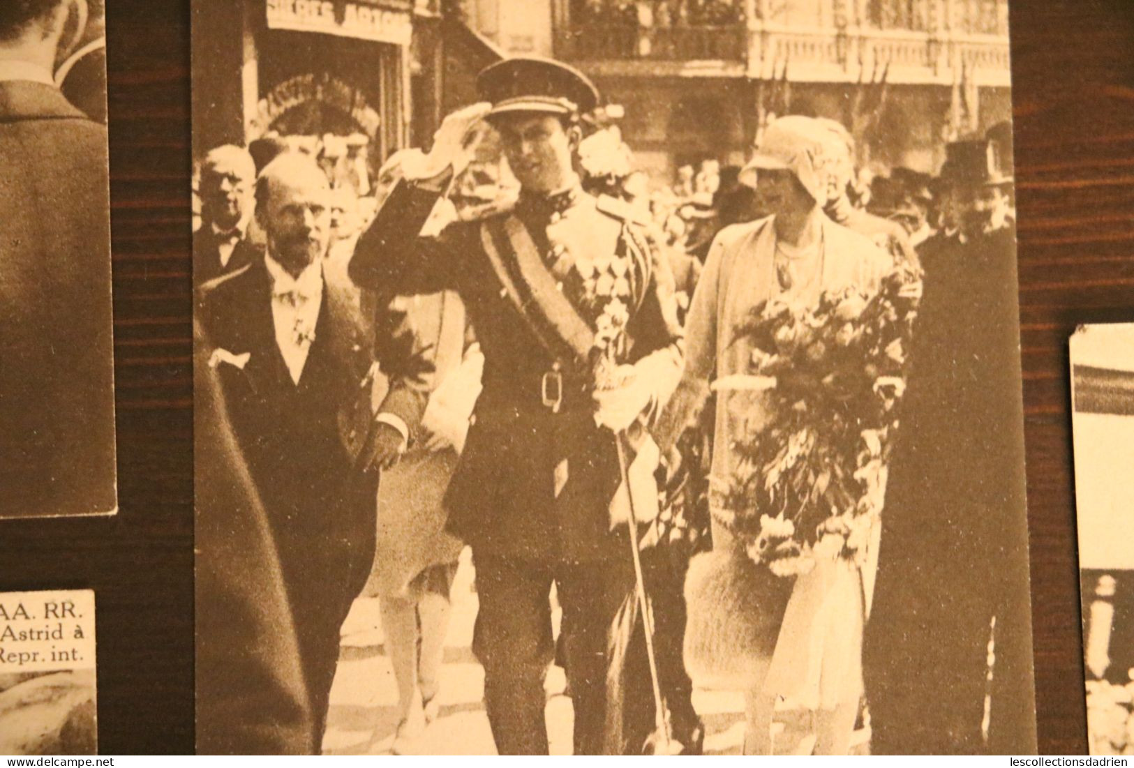
[[[465,301],[484,353],[484,375],[446,497],[450,530],[484,553],[573,562],[625,556],[625,543],[608,536],[608,506],[620,475],[612,434],[594,424],[593,381],[576,372],[567,376],[559,413],[542,404],[540,384],[555,360],[501,296],[482,245],[484,222],[456,222],[438,238],[417,237],[437,198],[399,182],[359,238],[349,268],[366,288],[411,295],[456,290]],[[523,210],[517,215],[536,247],[550,249],[548,225],[556,217]],[[569,256],[609,261],[625,238],[641,244],[641,263],[634,266],[640,290],[626,327],[628,361],[638,369],[636,379],[665,400],[680,375],[683,348],[669,265],[644,232],[632,236],[632,223],[599,210],[589,195],[581,194],[558,215]],[[560,468],[568,479],[556,495]]]

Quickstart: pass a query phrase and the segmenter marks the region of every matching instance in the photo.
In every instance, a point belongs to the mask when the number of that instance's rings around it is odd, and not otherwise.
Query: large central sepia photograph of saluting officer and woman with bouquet
[[[193,0],[203,753],[1034,753],[1007,0]]]

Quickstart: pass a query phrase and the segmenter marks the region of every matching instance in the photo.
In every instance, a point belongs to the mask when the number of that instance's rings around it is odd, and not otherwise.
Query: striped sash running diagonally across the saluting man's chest
[[[489,220],[481,244],[502,293],[540,343],[556,360],[590,372],[594,331],[559,289],[524,223],[515,215]]]

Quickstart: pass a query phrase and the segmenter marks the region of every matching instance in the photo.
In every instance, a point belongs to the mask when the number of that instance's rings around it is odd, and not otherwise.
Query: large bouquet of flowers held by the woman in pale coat
[[[810,571],[820,553],[862,564],[920,297],[921,272],[899,266],[875,292],[829,291],[806,306],[773,299],[736,328],[754,348],[751,373],[714,389],[765,390],[767,418],[734,435],[734,473],[713,478],[714,514],[777,575]]]

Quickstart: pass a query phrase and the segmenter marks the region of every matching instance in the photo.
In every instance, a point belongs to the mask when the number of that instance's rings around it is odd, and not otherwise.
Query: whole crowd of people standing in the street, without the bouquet
[[[365,162],[342,172],[333,137],[218,147],[202,163],[198,376],[215,402],[197,409],[198,455],[227,458],[198,472],[235,477],[197,501],[203,749],[320,750],[339,626],[369,579],[399,690],[393,749],[411,750],[437,716],[469,546],[500,753],[547,752],[552,662],[575,753],[699,752],[704,681],[691,671],[720,659],[691,649],[694,608],[744,630],[712,642],[748,665],[735,679],[748,753],[773,749],[786,699],[816,712],[818,752],[847,751],[864,701],[878,752],[1026,751],[1002,129],[949,144],[937,177],[870,179],[841,123],[788,116],[744,167],[709,159],[651,189],[617,128],[587,123],[599,94],[579,72],[508,59],[477,87],[483,103],[446,118],[429,153],[398,152],[373,179]],[[822,555],[805,535],[794,552],[816,564],[771,579],[776,614],[745,592],[771,560],[730,527],[719,488],[737,430],[759,430],[770,401],[710,385],[751,378],[764,352],[734,331],[760,307],[871,296],[899,272],[920,317],[886,514],[873,510],[865,558]],[[253,579],[225,578],[232,530],[271,561]],[[683,583],[709,551],[723,571],[694,606]],[[272,605],[276,631],[242,632],[249,669],[235,674],[225,622],[264,623]]]

